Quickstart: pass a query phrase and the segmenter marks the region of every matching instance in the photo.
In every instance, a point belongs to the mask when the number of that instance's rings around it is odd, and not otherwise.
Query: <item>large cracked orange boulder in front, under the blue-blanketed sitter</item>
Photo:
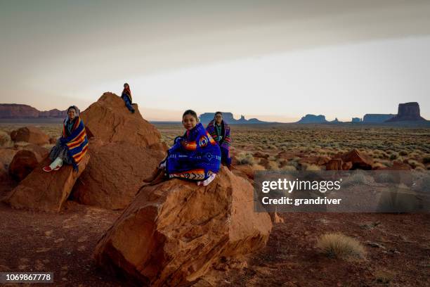
[[[252,185],[226,167],[209,186],[144,186],[98,242],[96,261],[144,285],[191,285],[215,264],[266,245],[271,218],[254,212],[252,198]]]

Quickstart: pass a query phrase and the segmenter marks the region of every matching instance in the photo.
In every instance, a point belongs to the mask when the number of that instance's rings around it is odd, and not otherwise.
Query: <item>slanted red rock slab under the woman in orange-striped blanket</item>
[[[42,167],[50,163],[49,159],[44,160],[4,201],[13,208],[59,212],[72,191],[74,182],[85,170],[89,158],[87,153],[79,164],[78,172],[71,165],[63,165],[56,172],[44,172]]]

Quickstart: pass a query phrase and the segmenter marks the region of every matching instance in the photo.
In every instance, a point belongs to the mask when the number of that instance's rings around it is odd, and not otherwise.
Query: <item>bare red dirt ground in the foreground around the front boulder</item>
[[[128,286],[93,260],[98,238],[120,213],[70,201],[59,214],[13,210],[0,203],[0,271],[54,272],[54,286]],[[281,216],[285,223],[275,225],[266,248],[249,256],[242,271],[219,272],[216,286],[430,286],[428,214]],[[380,223],[373,227],[375,222]],[[320,254],[316,238],[332,231],[363,243],[365,260]],[[393,274],[389,283],[378,282],[375,274],[381,270]],[[206,285],[200,281],[196,286]]]

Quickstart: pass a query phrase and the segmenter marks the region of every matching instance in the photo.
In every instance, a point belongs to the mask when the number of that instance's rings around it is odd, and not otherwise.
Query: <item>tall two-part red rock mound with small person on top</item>
[[[125,208],[164,158],[167,146],[158,130],[143,119],[135,105],[105,93],[82,113],[91,160],[74,186],[72,197],[100,208]]]

